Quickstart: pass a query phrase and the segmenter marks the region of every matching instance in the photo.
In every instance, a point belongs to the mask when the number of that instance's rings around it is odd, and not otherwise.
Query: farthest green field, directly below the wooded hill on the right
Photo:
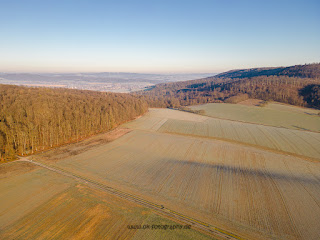
[[[239,104],[208,103],[190,108],[204,110],[205,115],[216,118],[320,132],[320,117],[318,116],[320,110],[276,102],[258,107],[249,104],[250,100]]]

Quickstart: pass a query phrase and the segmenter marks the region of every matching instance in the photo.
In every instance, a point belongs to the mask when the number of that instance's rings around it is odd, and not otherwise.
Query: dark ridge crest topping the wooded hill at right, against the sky
[[[320,63],[295,65],[290,67],[238,69],[216,75],[216,77],[223,78],[249,78],[257,76],[320,78]]]

